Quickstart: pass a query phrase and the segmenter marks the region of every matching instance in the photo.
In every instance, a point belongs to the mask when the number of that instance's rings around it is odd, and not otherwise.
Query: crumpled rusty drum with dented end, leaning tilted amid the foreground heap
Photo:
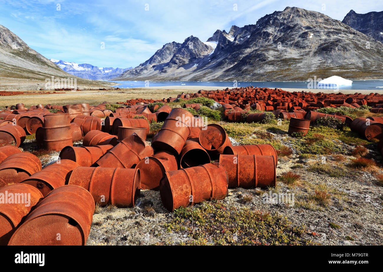
[[[132,168],[140,160],[153,154],[153,148],[136,133],[133,133],[106,152],[94,166]]]

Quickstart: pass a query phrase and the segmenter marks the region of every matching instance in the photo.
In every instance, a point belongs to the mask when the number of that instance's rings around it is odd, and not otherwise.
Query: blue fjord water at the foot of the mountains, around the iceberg
[[[233,81],[111,81],[121,85],[113,85],[119,88],[141,88],[160,86],[211,86],[214,88],[234,87]],[[308,81],[238,81],[237,87],[267,87],[267,88],[298,88],[308,89]],[[339,90],[374,90],[383,91],[383,79],[376,80],[353,80],[352,86],[339,86]]]

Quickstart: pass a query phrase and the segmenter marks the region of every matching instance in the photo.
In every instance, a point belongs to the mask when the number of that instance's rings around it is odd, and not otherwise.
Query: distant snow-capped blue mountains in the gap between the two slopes
[[[87,63],[77,64],[75,62],[55,59],[51,59],[51,62],[57,64],[58,67],[67,73],[92,80],[111,80],[132,68],[97,67]]]

